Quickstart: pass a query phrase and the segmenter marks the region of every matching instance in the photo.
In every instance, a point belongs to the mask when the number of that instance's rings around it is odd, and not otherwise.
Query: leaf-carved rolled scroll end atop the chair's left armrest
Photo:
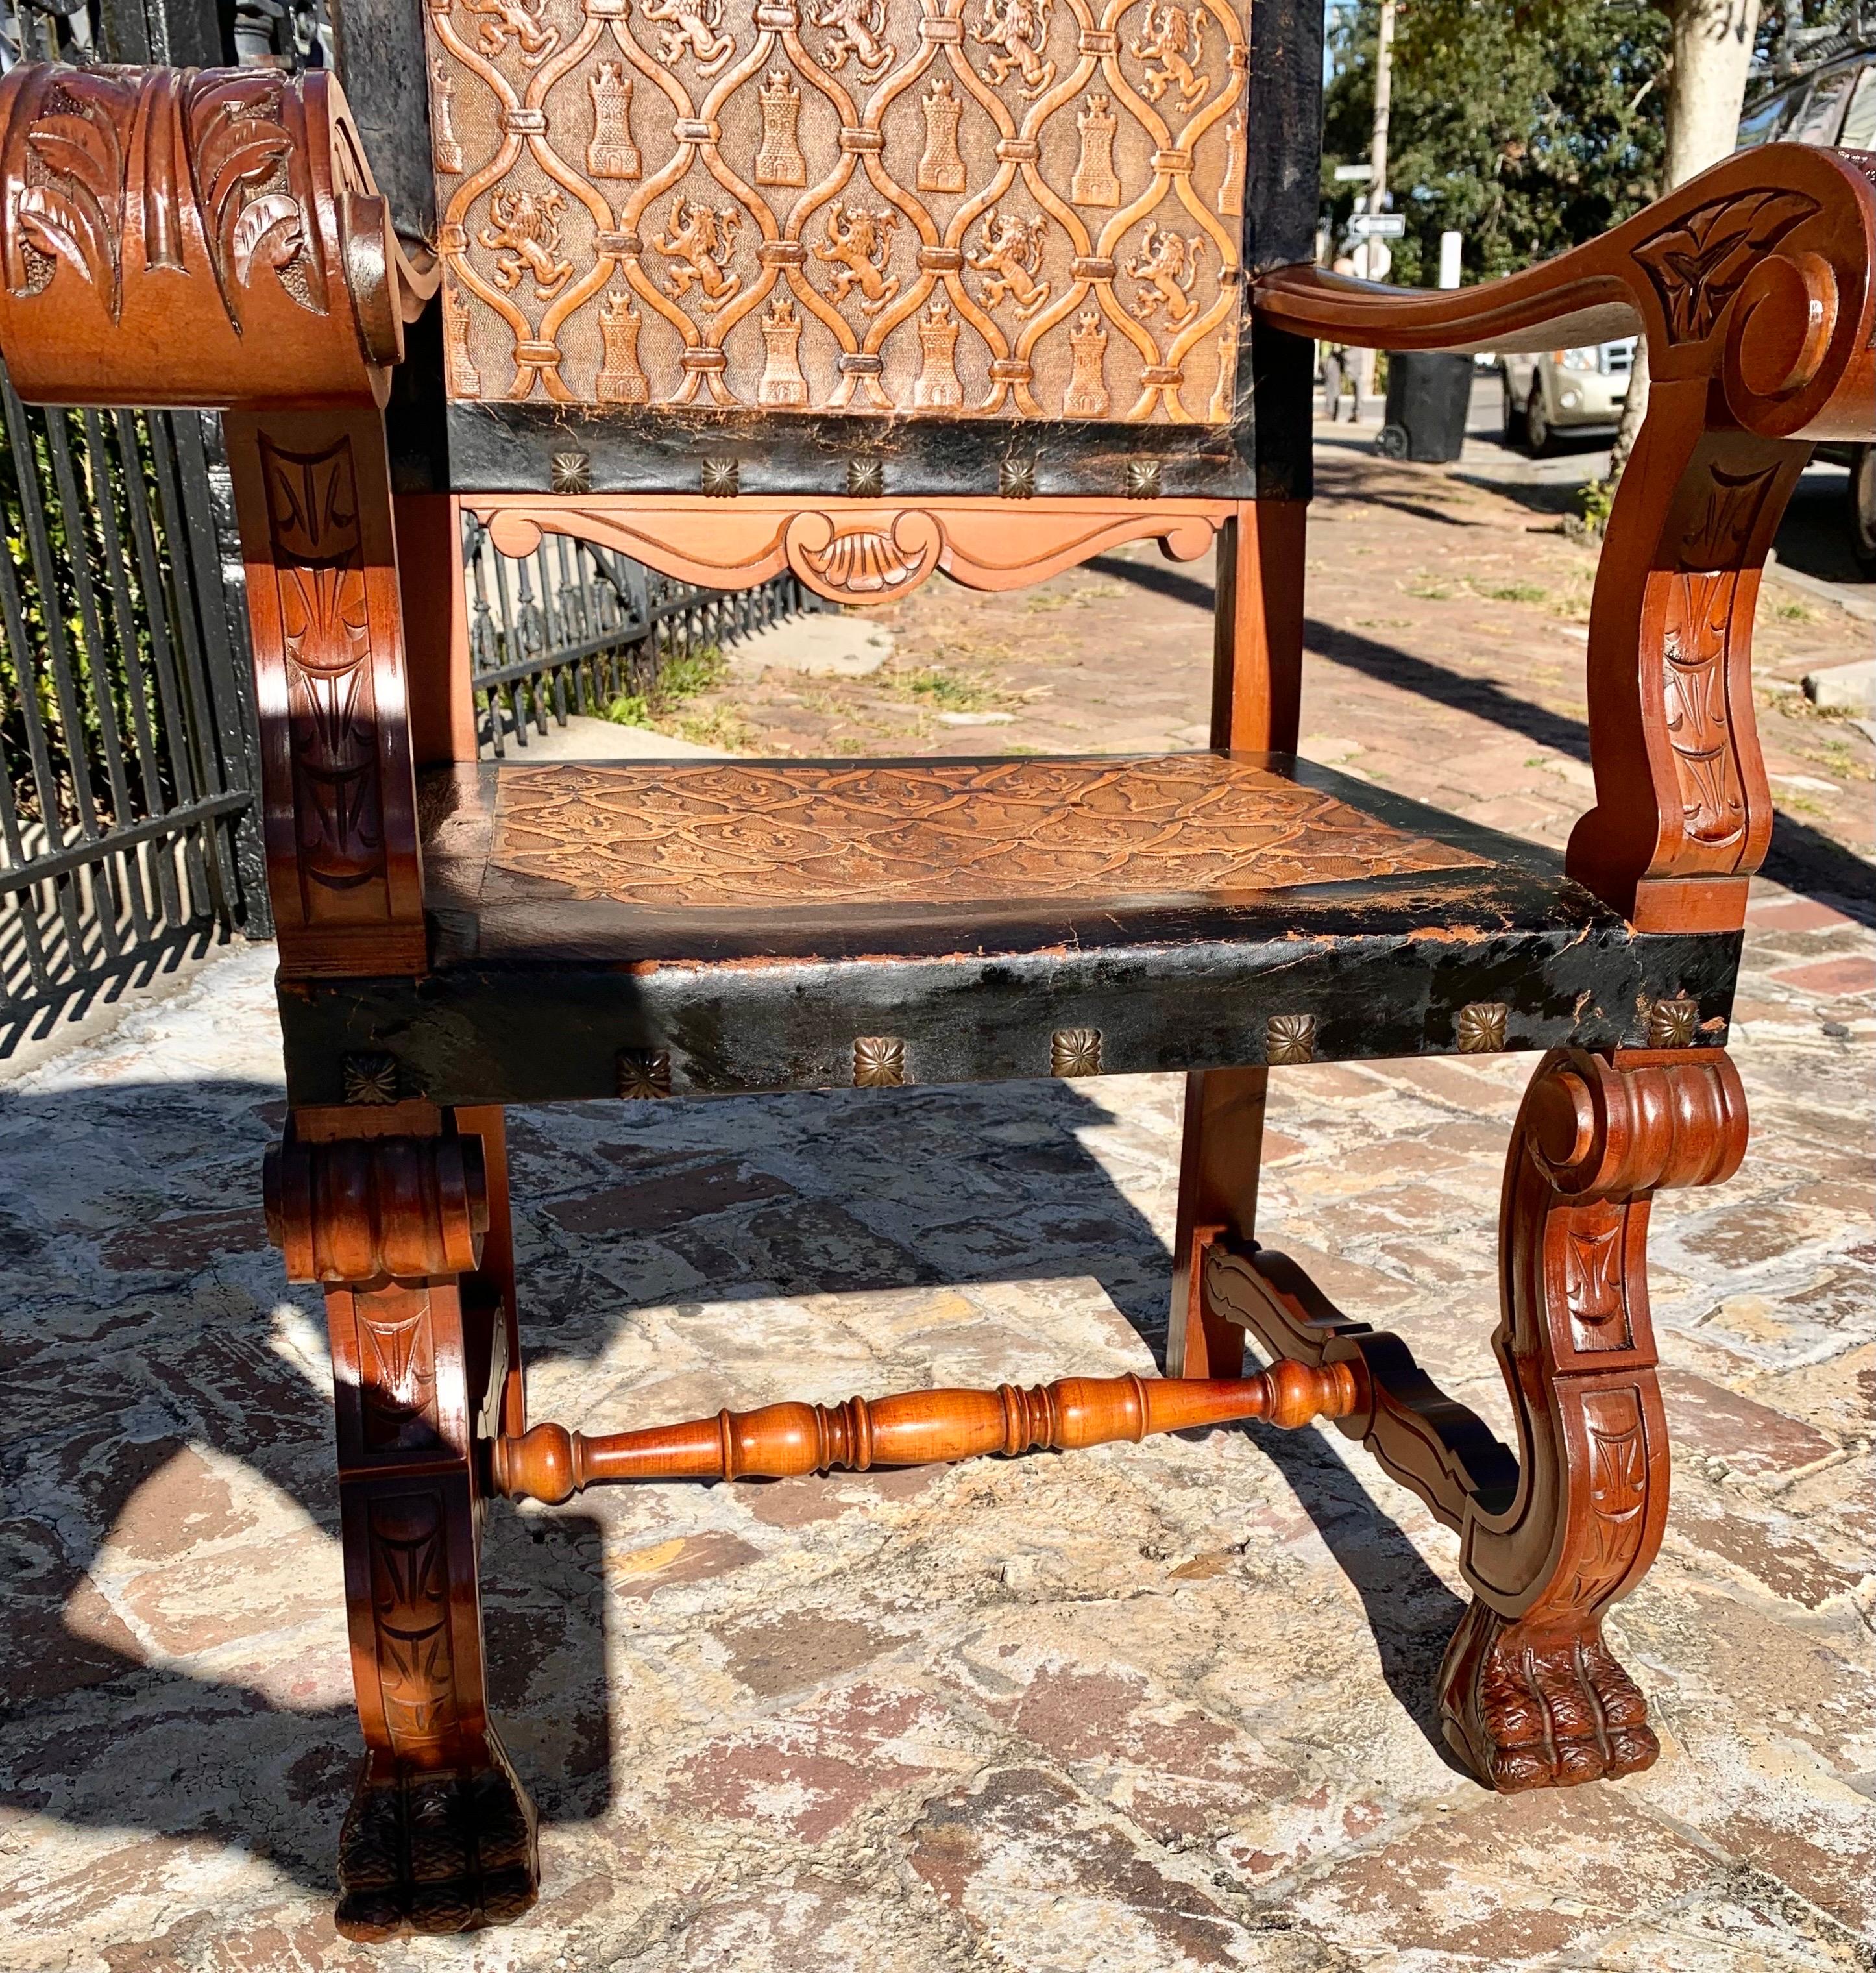
[[[383,404],[434,292],[322,71],[0,79],[0,347],[24,399]]]

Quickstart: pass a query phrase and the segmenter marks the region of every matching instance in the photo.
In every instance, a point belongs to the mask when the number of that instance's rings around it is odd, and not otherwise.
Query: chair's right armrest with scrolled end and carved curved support
[[[1574,878],[1643,931],[1744,921],[1771,839],[1752,714],[1760,572],[1811,446],[1876,438],[1876,156],[1773,144],[1600,241],[1438,294],[1278,268],[1270,328],[1389,349],[1641,333],[1649,408],[1590,612],[1596,807]]]

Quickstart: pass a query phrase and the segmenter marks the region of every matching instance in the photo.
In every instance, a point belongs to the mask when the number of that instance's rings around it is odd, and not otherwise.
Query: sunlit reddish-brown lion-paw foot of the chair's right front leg
[[[1440,1713],[1472,1772],[1507,1795],[1637,1774],[1661,1752],[1600,1626],[1527,1628],[1478,1602],[1446,1649]]]

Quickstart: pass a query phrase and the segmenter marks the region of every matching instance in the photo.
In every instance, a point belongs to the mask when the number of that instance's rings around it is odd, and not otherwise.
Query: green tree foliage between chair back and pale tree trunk
[[[1379,0],[1335,16],[1324,203],[1339,243],[1369,156]],[[1407,215],[1389,280],[1426,286],[1440,233],[1468,280],[1596,239],[1657,189],[1667,16],[1643,0],[1405,0],[1395,28],[1389,185]]]

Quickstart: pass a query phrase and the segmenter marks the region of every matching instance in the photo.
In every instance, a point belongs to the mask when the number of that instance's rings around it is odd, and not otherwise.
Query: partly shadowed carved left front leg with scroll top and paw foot
[[[266,1206],[288,1277],[325,1288],[331,1330],[365,1730],[337,1928],[385,1939],[501,1924],[535,1902],[539,1863],[535,1809],[483,1681],[481,1444],[501,1426],[507,1383],[507,1324],[477,1292],[491,1284],[477,1275],[483,1140],[290,1138],[268,1158]]]

